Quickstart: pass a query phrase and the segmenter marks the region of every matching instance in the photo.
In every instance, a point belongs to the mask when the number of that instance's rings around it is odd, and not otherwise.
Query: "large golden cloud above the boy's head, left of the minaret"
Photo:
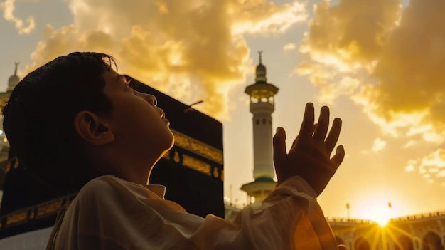
[[[306,19],[298,1],[72,0],[69,6],[73,24],[45,28],[28,71],[71,51],[102,51],[117,58],[119,71],[184,102],[204,100],[200,110],[219,118],[233,108],[230,90],[252,72],[245,35],[283,33]]]

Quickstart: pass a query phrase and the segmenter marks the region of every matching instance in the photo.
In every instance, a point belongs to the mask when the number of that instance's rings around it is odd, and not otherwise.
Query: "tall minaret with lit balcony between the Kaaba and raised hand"
[[[272,113],[274,95],[278,88],[267,83],[266,67],[262,65],[262,51],[258,51],[259,64],[256,69],[255,83],[247,86],[245,93],[250,95],[250,112],[253,114],[254,144],[254,182],[242,185],[241,190],[254,197],[253,208],[261,206],[262,201],[275,188],[275,171],[272,152]]]

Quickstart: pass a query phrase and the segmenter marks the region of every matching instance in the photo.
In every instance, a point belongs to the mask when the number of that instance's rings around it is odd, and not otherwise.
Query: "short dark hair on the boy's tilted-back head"
[[[104,53],[60,56],[26,75],[3,109],[9,157],[50,187],[78,190],[94,177],[74,117],[82,110],[112,110],[104,71],[116,66]]]

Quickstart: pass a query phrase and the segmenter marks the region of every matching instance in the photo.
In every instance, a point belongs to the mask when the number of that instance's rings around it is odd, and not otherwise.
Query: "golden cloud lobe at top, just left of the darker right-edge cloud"
[[[353,68],[368,64],[381,53],[400,12],[399,0],[341,0],[331,6],[323,1],[313,6],[314,17],[302,44],[315,60]],[[328,61],[329,61],[328,60]]]

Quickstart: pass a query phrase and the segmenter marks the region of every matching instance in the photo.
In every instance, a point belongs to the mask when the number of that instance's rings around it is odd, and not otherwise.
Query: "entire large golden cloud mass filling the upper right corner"
[[[445,1],[341,0],[315,4],[296,71],[333,102],[350,97],[394,137],[445,140]],[[348,91],[341,79],[360,79]]]

